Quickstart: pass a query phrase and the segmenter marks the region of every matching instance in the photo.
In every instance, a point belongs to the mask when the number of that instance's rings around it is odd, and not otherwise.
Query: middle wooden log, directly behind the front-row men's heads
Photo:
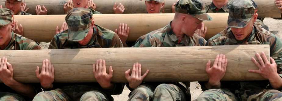
[[[228,13],[210,13],[213,20],[204,22],[208,28],[206,39],[223,31],[227,26]],[[25,15],[14,16],[24,29],[24,37],[34,41],[51,41],[55,28],[61,26],[66,15]],[[95,14],[95,24],[114,31],[119,23],[130,27],[128,41],[136,41],[140,36],[165,27],[173,20],[174,14]]]

